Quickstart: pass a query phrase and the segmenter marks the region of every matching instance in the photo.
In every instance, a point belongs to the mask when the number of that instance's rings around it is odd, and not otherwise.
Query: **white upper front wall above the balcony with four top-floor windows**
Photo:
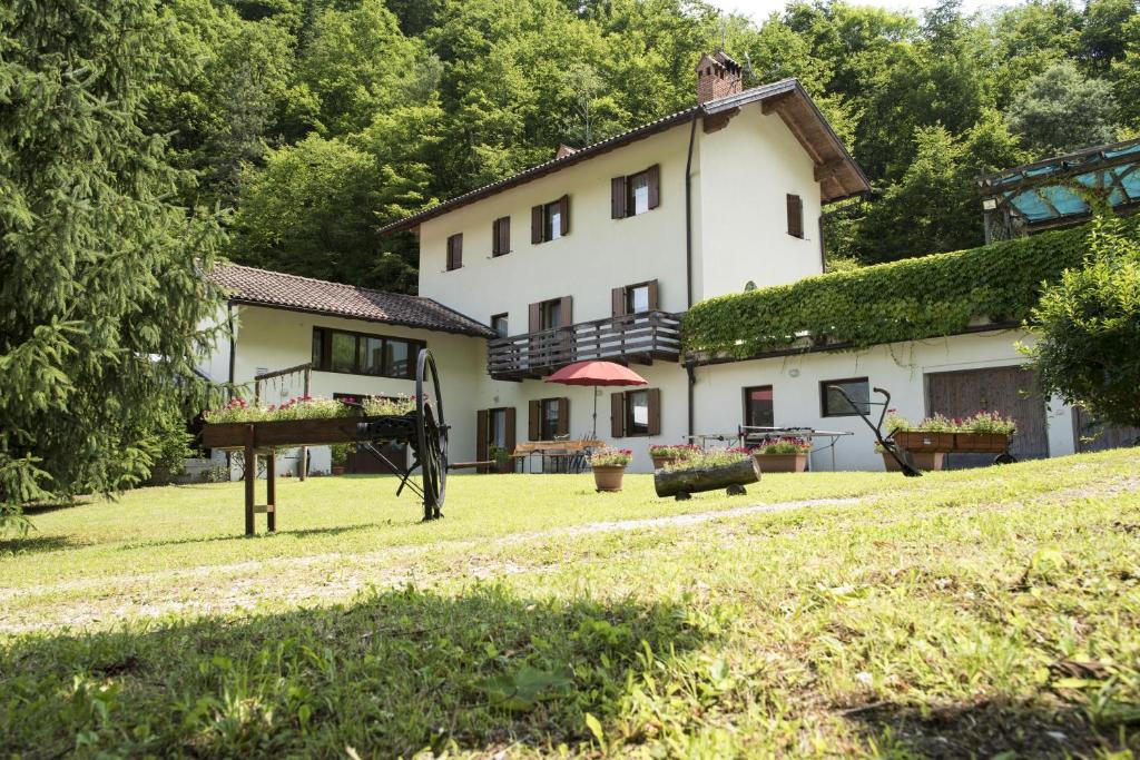
[[[657,279],[660,304],[685,303],[685,155],[678,126],[547,174],[424,222],[420,228],[420,294],[489,324],[507,312],[512,335],[528,332],[529,304],[573,296],[573,320],[612,314],[614,287]],[[660,205],[610,219],[610,180],[660,164]],[[531,206],[570,196],[570,230],[530,242]],[[511,252],[491,258],[491,223],[511,216]],[[463,267],[447,269],[447,238],[463,234]]]

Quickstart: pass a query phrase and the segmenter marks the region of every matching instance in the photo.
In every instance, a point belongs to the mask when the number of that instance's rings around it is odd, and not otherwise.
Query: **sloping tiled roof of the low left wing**
[[[239,264],[220,264],[210,277],[228,293],[234,303],[418,327],[440,333],[495,336],[495,332],[486,325],[423,296],[384,293]]]

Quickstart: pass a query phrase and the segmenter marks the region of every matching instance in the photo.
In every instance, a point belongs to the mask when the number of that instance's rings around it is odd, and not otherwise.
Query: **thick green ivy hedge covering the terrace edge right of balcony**
[[[1122,227],[1140,237],[1140,219]],[[1082,226],[709,299],[685,313],[684,348],[743,359],[955,335],[975,318],[1020,322],[1042,284],[1080,268],[1088,250]]]

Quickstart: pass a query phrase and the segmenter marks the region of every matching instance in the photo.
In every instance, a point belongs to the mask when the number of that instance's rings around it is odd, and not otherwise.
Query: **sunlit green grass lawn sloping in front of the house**
[[[26,757],[1133,757],[1134,451],[922,479],[384,477],[33,514],[0,545]],[[259,516],[259,525],[263,518]]]

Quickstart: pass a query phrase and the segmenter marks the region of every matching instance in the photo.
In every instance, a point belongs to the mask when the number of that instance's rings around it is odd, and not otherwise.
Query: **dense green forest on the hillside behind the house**
[[[987,170],[1140,126],[1132,0],[921,17],[790,2],[757,25],[681,0],[172,0],[148,119],[231,209],[228,256],[392,291],[414,243],[385,222],[692,105],[724,48],[746,87],[798,77],[876,193],[828,220],[834,265],[982,242]],[[844,207],[844,205],[848,207]]]

